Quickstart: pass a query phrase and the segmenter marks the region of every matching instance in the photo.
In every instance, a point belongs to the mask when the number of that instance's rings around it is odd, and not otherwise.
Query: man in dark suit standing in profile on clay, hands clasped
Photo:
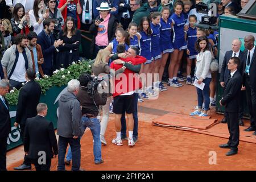
[[[238,57],[231,57],[228,63],[230,75],[224,87],[223,97],[220,100],[220,105],[225,106],[230,134],[228,143],[220,145],[221,148],[230,148],[226,156],[237,154],[239,144],[238,110],[240,105],[242,76],[238,71],[238,65],[240,65],[240,59]]]

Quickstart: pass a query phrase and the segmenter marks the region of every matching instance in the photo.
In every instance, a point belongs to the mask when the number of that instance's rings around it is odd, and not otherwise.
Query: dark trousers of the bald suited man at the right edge
[[[256,90],[252,89],[250,83],[250,77],[245,77],[245,88],[246,88],[246,98],[247,105],[250,113],[250,123],[251,127],[256,128],[255,119],[256,119]]]

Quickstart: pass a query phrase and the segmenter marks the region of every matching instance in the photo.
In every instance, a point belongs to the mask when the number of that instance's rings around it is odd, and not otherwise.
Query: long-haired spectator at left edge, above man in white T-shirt
[[[0,24],[0,31],[2,32],[3,38],[5,39],[5,49],[11,46],[11,34],[13,33],[13,28],[11,28],[11,23],[9,19],[2,19]]]

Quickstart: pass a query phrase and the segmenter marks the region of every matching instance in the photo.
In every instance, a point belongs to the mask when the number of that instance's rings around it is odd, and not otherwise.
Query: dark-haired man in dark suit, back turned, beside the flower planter
[[[24,129],[26,126],[27,118],[35,117],[36,106],[39,103],[41,96],[41,87],[36,82],[36,73],[33,68],[28,68],[26,71],[26,84],[19,91],[17,112],[16,112],[16,122],[15,127],[20,126],[20,137],[24,143]],[[27,160],[27,156],[24,156],[24,162],[19,167],[15,167],[16,170],[31,169],[31,163]]]

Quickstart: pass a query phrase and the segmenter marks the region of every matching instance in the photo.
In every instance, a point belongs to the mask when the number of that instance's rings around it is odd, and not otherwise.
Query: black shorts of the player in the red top
[[[113,112],[115,114],[122,114],[123,110],[127,114],[134,112],[134,94],[129,96],[114,97]]]

